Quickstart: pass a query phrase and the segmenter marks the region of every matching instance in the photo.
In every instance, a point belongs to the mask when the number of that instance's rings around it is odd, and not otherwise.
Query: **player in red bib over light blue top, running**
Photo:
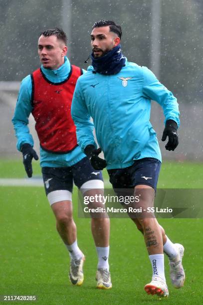
[[[57,231],[70,254],[69,279],[80,286],[84,279],[84,254],[77,244],[72,217],[73,182],[87,196],[102,194],[104,183],[101,171],[92,167],[77,145],[70,108],[76,81],[85,71],[70,64],[66,45],[66,34],[60,28],[40,34],[41,67],[22,80],[12,123],[17,150],[22,152],[25,171],[31,177],[32,158],[38,159],[28,128],[30,113],[34,117],[45,192],[56,217]],[[110,289],[108,217],[92,218],[91,228],[98,254],[97,287]]]

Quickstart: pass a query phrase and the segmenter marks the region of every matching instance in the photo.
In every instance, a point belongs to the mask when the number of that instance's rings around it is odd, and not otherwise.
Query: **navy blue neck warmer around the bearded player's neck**
[[[125,66],[125,57],[121,53],[121,45],[117,45],[106,55],[94,58],[93,52],[91,54],[92,66],[95,72],[104,75],[113,75],[120,72],[121,68]]]

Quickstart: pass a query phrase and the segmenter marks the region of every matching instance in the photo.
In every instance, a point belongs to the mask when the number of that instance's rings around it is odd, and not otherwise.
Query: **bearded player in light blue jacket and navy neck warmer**
[[[95,169],[107,167],[110,182],[118,191],[133,189],[141,194],[140,207],[150,207],[161,166],[161,152],[150,123],[151,100],[164,111],[168,137],[166,149],[178,146],[179,110],[176,98],[146,67],[128,62],[121,53],[121,26],[100,20],[91,32],[92,65],[77,80],[71,115],[76,125],[78,144]],[[92,133],[93,118],[99,149]],[[104,158],[98,156],[104,152]],[[130,215],[129,215],[130,216]],[[164,252],[169,257],[170,276],[174,287],[184,285],[182,266],[184,247],[174,244],[155,217],[133,217],[144,234],[152,263],[152,281],[145,286],[148,294],[168,297],[164,272]]]

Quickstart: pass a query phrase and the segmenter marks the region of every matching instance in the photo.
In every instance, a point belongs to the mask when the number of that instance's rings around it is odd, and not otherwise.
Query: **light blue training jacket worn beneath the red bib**
[[[59,83],[64,81],[68,74],[70,73],[70,62],[67,57],[65,57],[64,64],[60,66],[57,70],[45,69],[41,65],[42,72],[45,74],[46,78],[53,83]],[[86,72],[83,70],[83,73]],[[28,128],[28,117],[32,111],[31,106],[31,93],[32,93],[32,82],[31,76],[26,76],[20,85],[20,90],[18,93],[17,103],[15,107],[14,116],[12,118],[12,123],[15,130],[15,136],[17,138],[17,150],[20,151],[20,146],[24,143],[30,144],[32,147],[34,145],[33,138],[29,132]],[[86,155],[81,152],[80,147],[76,147],[72,152],[57,154],[52,152],[45,152],[40,147],[40,166],[49,167],[66,167],[71,166],[79,162]]]

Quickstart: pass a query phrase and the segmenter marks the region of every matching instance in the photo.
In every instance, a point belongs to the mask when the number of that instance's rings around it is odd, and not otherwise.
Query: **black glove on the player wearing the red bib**
[[[30,178],[32,176],[32,158],[38,160],[38,155],[33,150],[30,144],[22,144],[21,146],[22,158],[25,171]]]

